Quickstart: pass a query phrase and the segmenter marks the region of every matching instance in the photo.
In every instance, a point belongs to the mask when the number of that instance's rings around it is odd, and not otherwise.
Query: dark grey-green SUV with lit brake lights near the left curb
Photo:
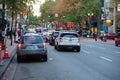
[[[20,37],[17,44],[17,61],[25,59],[47,61],[47,48],[42,36],[27,33]]]

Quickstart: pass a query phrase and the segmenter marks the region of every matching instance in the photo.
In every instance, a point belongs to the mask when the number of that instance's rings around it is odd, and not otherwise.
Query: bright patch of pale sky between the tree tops
[[[34,5],[33,5],[33,12],[34,12],[34,16],[40,16],[40,12],[39,12],[39,9],[40,9],[40,5],[43,4],[45,2],[45,0],[39,0],[38,2],[36,2]]]

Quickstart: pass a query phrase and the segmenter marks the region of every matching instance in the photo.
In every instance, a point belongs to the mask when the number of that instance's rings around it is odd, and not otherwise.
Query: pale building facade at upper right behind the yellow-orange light
[[[117,11],[119,0],[104,0],[104,14],[105,14],[105,21],[111,20],[112,25],[108,26],[108,33],[117,33],[117,28],[120,27],[119,22],[119,15],[120,13]]]

